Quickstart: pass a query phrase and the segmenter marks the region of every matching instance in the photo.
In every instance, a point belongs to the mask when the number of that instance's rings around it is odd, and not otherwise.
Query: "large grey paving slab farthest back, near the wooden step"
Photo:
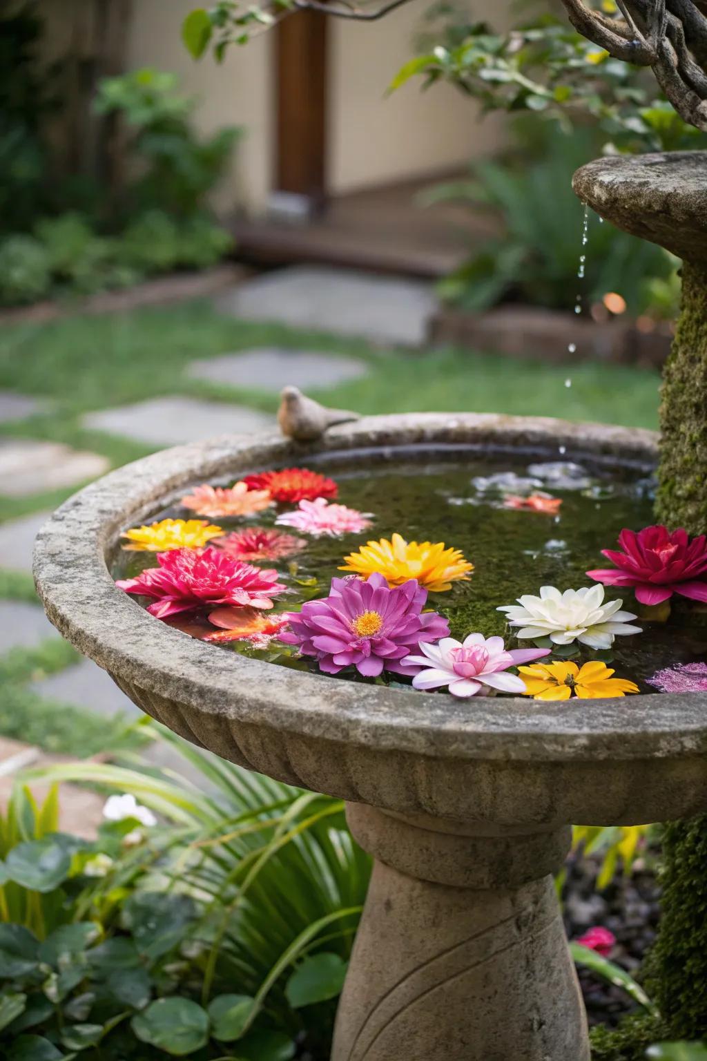
[[[422,280],[296,265],[242,283],[222,295],[216,308],[247,320],[419,346],[437,300]]]

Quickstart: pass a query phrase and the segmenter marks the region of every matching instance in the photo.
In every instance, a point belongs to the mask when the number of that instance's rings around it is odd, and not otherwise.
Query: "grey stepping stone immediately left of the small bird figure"
[[[276,427],[272,416],[257,410],[194,398],[155,398],[101,410],[84,416],[83,424],[156,447],[200,442],[215,435],[273,431]]]

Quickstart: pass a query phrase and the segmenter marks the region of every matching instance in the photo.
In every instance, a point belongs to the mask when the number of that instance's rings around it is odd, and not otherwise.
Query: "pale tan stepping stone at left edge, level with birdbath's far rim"
[[[72,450],[61,442],[0,439],[0,493],[6,497],[25,498],[74,486],[103,475],[109,467],[106,457]]]

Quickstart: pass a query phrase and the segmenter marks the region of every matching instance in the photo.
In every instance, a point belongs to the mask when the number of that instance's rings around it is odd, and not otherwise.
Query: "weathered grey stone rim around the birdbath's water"
[[[225,716],[304,738],[472,761],[631,761],[707,752],[706,694],[595,700],[587,709],[581,700],[553,707],[505,697],[483,703],[361,686],[218,651],[155,620],[113,585],[105,555],[118,532],[196,480],[339,451],[420,445],[529,454],[564,445],[567,459],[642,468],[657,455],[653,432],[475,414],[371,417],[308,445],[268,435],[178,447],[99,480],[45,525],[34,570],[47,614],[119,683],[188,705],[205,719]]]

